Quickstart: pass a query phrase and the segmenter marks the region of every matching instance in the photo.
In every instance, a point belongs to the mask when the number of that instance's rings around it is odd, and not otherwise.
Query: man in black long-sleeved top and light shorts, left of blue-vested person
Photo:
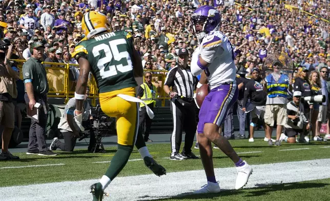
[[[263,119],[265,110],[266,110],[266,99],[267,99],[267,92],[263,89],[263,83],[260,76],[260,71],[258,68],[253,68],[251,71],[251,79],[245,85],[243,103],[242,103],[242,111],[245,113],[246,106],[248,105],[248,99],[250,98],[251,107],[254,109],[251,111],[251,124],[250,124],[250,138],[249,142],[254,142],[253,135],[254,135],[254,128],[257,125],[258,118]],[[249,114],[249,113],[248,113]],[[265,126],[264,126],[265,128]]]

